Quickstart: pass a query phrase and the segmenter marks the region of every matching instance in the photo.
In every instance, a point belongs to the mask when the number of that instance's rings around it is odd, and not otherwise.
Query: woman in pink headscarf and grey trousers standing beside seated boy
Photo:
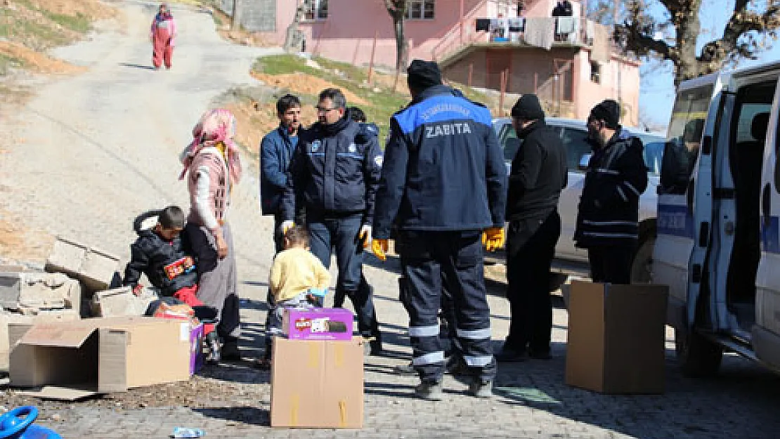
[[[190,192],[185,232],[197,257],[197,298],[219,311],[217,333],[222,359],[240,359],[236,250],[227,217],[232,186],[241,178],[236,118],[225,109],[210,110],[193,128],[193,141],[182,154]]]

